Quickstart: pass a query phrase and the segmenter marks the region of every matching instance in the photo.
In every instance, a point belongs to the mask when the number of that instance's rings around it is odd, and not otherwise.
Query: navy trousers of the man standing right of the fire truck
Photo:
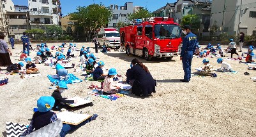
[[[184,70],[184,81],[190,81],[192,58],[193,58],[193,51],[187,51],[182,58],[182,65]]]

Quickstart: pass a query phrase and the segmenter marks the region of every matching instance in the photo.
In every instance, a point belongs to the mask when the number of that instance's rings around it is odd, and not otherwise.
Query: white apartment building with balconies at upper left
[[[45,25],[61,25],[59,0],[28,0],[31,29],[44,29]]]

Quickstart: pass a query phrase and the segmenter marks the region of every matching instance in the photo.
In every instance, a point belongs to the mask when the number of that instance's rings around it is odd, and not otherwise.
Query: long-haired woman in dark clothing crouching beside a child
[[[154,81],[149,70],[142,62],[139,62],[137,58],[132,60],[131,69],[127,74],[128,79],[132,83],[132,94],[137,96],[147,96],[151,95],[152,92],[156,92]]]

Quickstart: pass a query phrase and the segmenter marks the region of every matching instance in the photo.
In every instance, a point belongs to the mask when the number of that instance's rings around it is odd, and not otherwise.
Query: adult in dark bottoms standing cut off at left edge
[[[0,34],[0,67],[7,67],[11,65],[12,55],[11,50],[8,48],[6,41],[4,39],[4,34]],[[1,69],[0,69],[1,70]]]

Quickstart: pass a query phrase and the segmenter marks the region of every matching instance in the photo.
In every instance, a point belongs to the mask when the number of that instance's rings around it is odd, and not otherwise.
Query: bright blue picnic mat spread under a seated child
[[[57,75],[47,75],[47,77],[50,80],[50,82],[54,82],[54,83],[61,82],[61,80],[58,77],[56,77],[56,76]],[[79,79],[78,77],[76,77],[74,74],[68,74],[68,79],[67,80],[62,80],[62,81],[66,82],[66,84],[82,82],[82,80]]]

